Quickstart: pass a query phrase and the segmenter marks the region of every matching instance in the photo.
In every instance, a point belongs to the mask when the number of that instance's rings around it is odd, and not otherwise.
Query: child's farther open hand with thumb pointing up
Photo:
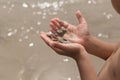
[[[78,26],[61,21],[58,18],[54,18],[50,22],[51,32],[55,33],[61,27],[64,27],[68,30],[67,34],[64,35],[64,38],[75,43],[85,44],[85,41],[90,36],[88,25],[86,20],[82,17],[81,12],[76,12],[77,19],[79,21]]]

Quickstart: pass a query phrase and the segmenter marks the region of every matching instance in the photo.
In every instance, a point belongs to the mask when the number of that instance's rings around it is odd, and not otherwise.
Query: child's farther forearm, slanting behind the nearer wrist
[[[106,60],[114,51],[116,44],[108,43],[90,36],[88,40],[86,40],[84,47],[90,54]]]

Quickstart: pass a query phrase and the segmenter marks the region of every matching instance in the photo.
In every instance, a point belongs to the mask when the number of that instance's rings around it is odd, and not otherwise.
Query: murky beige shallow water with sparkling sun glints
[[[119,41],[120,16],[109,0],[0,0],[0,80],[80,80],[74,60],[55,54],[39,38],[51,18],[78,24],[77,10],[93,35]],[[104,61],[90,57],[99,72]]]

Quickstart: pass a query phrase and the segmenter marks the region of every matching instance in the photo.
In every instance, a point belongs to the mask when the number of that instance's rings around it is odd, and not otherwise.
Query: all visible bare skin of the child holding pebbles
[[[112,4],[119,12],[120,0],[112,0]],[[64,35],[64,38],[71,41],[71,43],[63,44],[52,41],[46,36],[45,32],[41,32],[41,38],[56,53],[72,57],[76,61],[81,80],[120,80],[120,44],[105,42],[93,37],[80,11],[76,12],[76,16],[79,22],[78,26],[64,23],[58,18],[54,18],[50,22],[53,33],[57,29],[65,27],[70,33]],[[99,74],[94,70],[88,53],[106,60]]]

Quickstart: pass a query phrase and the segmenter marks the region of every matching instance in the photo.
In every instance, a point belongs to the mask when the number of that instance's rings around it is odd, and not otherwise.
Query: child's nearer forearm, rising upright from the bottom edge
[[[88,58],[88,54],[83,54],[78,60],[76,60],[81,80],[98,80],[97,73],[93,68],[93,65]]]

